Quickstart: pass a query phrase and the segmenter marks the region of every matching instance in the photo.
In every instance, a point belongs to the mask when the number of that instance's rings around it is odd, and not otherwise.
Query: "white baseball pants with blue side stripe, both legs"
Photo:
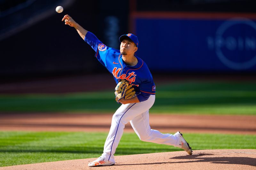
[[[179,147],[179,138],[177,136],[162,134],[157,130],[150,129],[149,108],[153,106],[154,102],[155,95],[150,95],[146,101],[123,104],[116,110],[104,145],[103,158],[115,162],[114,153],[123,135],[124,126],[129,121],[140,140]]]

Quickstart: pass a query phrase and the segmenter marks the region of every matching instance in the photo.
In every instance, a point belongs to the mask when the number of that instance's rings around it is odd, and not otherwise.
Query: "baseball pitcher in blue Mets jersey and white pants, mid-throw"
[[[162,134],[149,126],[149,109],[155,102],[156,85],[147,64],[134,54],[139,47],[137,36],[132,33],[120,36],[120,50],[117,50],[102,43],[69,15],[65,15],[62,21],[76,29],[83,40],[96,52],[97,60],[113,74],[117,84],[115,100],[122,104],[112,117],[102,155],[88,166],[108,166],[116,163],[114,154],[123,135],[124,126],[128,122],[131,123],[140,140],[173,145],[191,155],[191,147],[180,132],[174,135]]]

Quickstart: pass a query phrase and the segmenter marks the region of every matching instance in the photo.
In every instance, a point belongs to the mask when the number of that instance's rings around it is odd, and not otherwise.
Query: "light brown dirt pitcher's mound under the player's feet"
[[[138,155],[116,156],[116,164],[112,166],[88,167],[95,160],[76,159],[57,162],[37,163],[0,168],[7,170],[52,170],[52,169],[256,169],[256,150],[197,150],[193,155],[185,151],[163,152]]]

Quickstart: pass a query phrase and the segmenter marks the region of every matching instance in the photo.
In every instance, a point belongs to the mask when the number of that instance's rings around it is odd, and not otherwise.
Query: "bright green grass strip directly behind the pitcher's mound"
[[[99,157],[107,133],[0,132],[0,167]],[[184,134],[192,149],[256,149],[256,135]],[[181,151],[124,133],[115,155]]]

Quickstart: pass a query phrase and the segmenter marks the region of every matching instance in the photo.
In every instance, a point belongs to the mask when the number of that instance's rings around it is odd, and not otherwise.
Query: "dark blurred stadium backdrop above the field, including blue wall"
[[[153,76],[256,72],[253,0],[1,0],[1,82],[106,73],[94,51],[61,22],[72,16],[102,42],[119,48],[122,34],[139,37]],[[62,5],[58,14],[55,7]]]

